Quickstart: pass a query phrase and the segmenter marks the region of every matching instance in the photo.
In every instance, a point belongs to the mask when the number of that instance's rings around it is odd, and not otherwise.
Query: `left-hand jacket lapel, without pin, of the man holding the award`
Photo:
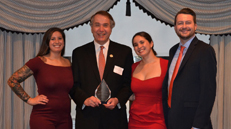
[[[98,70],[98,65],[97,65],[97,60],[96,60],[96,55],[95,55],[95,45],[93,42],[90,43],[88,49],[88,61],[91,63],[91,69],[92,69],[92,74],[95,75],[97,80],[100,82],[100,76],[99,76],[99,70]]]

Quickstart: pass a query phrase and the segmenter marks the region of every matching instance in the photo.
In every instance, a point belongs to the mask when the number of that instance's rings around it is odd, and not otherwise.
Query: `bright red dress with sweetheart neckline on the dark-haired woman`
[[[132,65],[132,72],[140,62]],[[162,83],[168,61],[160,58],[161,75],[147,80],[132,77],[135,100],[130,108],[129,129],[166,129],[162,105]]]

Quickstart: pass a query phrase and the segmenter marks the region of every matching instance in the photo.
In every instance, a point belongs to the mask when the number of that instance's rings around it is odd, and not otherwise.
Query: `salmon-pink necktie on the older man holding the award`
[[[103,79],[103,72],[105,68],[105,58],[103,55],[103,48],[104,46],[100,46],[100,52],[99,52],[99,75],[101,80]]]

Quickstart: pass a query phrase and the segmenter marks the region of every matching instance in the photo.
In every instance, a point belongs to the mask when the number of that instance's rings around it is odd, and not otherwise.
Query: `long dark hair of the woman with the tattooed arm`
[[[57,27],[52,27],[50,29],[48,29],[44,36],[43,36],[43,41],[42,41],[42,45],[39,49],[39,52],[37,54],[37,56],[44,56],[44,55],[47,55],[50,53],[50,47],[49,47],[49,43],[50,43],[50,39],[51,39],[51,36],[54,32],[60,32],[62,37],[63,37],[63,41],[64,41],[64,47],[63,47],[63,50],[61,52],[61,56],[64,55],[64,52],[65,52],[65,46],[66,46],[66,40],[65,40],[65,34],[63,32],[63,30],[61,30],[60,28],[57,28]]]

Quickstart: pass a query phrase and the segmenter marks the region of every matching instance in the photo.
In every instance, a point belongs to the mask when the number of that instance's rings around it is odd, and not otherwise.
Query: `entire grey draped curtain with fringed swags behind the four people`
[[[98,10],[109,10],[119,0],[1,0],[0,1],[0,128],[29,129],[31,106],[22,103],[7,79],[35,57],[43,33],[50,27],[68,30],[88,23]],[[129,0],[127,0],[129,3]],[[230,0],[133,0],[155,20],[173,26],[183,7],[197,14],[197,33],[209,34],[217,57],[217,96],[212,112],[214,129],[231,129],[231,1]],[[132,12],[131,12],[132,14]],[[124,15],[124,14],[121,14]],[[134,14],[132,14],[134,15]],[[33,78],[22,83],[36,96]]]

